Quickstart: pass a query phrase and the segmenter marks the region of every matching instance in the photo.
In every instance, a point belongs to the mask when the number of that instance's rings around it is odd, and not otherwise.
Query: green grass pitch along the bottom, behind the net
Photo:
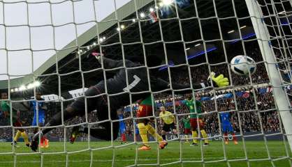
[[[118,142],[113,143],[115,146],[121,146]],[[182,146],[182,152],[180,152],[180,144]],[[41,158],[43,158],[43,166],[66,166],[66,159],[68,159],[68,166],[90,166],[91,156],[93,158],[92,166],[129,166],[135,164],[136,146],[139,145],[123,145],[122,147],[105,148],[103,150],[93,150],[92,154],[88,148],[87,142],[76,142],[73,145],[63,142],[51,142],[50,148],[43,149],[45,152],[43,156],[40,154],[31,154],[31,150],[26,148],[24,143],[18,143],[20,148],[15,148],[16,153],[30,153],[28,155],[17,154],[16,159],[13,154],[3,154],[3,152],[12,152],[12,146],[10,143],[0,143],[0,166],[8,167],[14,166],[14,160],[16,166],[21,167],[34,167],[41,166]],[[91,142],[93,149],[110,146],[110,142]],[[157,161],[157,145],[151,144],[152,150],[138,151],[137,164],[156,164]],[[263,141],[245,141],[245,147],[247,149],[247,157],[251,159],[265,159],[262,161],[249,161],[250,166],[272,166],[271,161],[268,160],[268,153]],[[278,159],[273,161],[275,166],[291,166],[291,152],[289,152],[289,158],[286,157],[286,151],[283,141],[268,141],[268,150],[270,151],[270,157],[272,159]],[[67,154],[50,154],[52,152],[63,152],[66,148]],[[201,148],[203,149],[203,157],[205,166],[228,166],[224,161],[224,150],[221,141],[210,141],[210,145],[207,147],[190,146],[189,143],[179,143],[173,141],[168,143],[168,146],[164,150],[159,150],[160,164],[168,164],[177,162],[176,164],[169,164],[167,166],[203,166]],[[78,152],[78,150],[85,150]],[[245,161],[244,148],[242,142],[238,145],[234,145],[231,141],[228,145],[225,145],[226,157],[228,160],[240,159],[239,161],[229,161],[230,166],[248,166]],[[76,152],[77,151],[77,152]],[[114,161],[113,153],[115,154]],[[182,163],[180,163],[180,156],[182,157]],[[283,159],[281,159],[283,158]],[[221,160],[221,161],[218,161]],[[209,161],[209,162],[207,162]],[[154,165],[153,165],[154,166]]]

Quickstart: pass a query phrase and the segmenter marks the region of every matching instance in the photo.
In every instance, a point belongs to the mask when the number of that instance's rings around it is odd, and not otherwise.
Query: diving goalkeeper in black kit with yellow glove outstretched
[[[94,53],[96,54],[96,53]],[[111,122],[110,120],[117,120],[117,109],[120,106],[127,106],[130,104],[130,95],[132,102],[136,102],[140,99],[145,99],[149,96],[149,88],[152,91],[160,91],[170,89],[170,84],[167,81],[156,76],[158,73],[152,69],[152,72],[149,74],[149,84],[147,76],[147,68],[139,63],[133,63],[129,60],[115,61],[110,58],[105,58],[104,56],[96,56],[98,62],[102,64],[105,69],[118,70],[113,77],[104,79],[100,81],[95,86],[88,88],[85,92],[85,97],[79,97],[71,105],[69,105],[64,110],[64,121],[71,119],[75,116],[84,116],[85,115],[85,100],[87,101],[87,112],[97,111],[97,118],[99,121],[103,121],[99,124],[101,128],[91,129],[90,133],[96,138],[103,140],[114,140],[117,138],[119,132],[119,122],[112,122],[112,131],[111,131]],[[125,68],[127,70],[125,71]],[[157,57],[147,58],[148,66],[157,66],[161,64],[161,60]],[[127,72],[127,74],[126,74]],[[128,79],[126,79],[126,76]],[[222,75],[219,75],[220,78],[212,77],[215,85],[217,86],[227,86],[228,79],[224,78]],[[128,84],[127,84],[128,81]],[[107,87],[107,96],[105,94],[105,86]],[[202,84],[194,85],[193,88],[205,88],[210,86],[210,81]],[[190,88],[187,84],[172,84],[174,90]],[[143,92],[143,93],[141,93]],[[108,99],[110,102],[108,102]],[[108,114],[108,106],[110,108],[110,114]],[[109,117],[110,115],[110,117]],[[54,115],[54,117],[48,122],[45,127],[61,125],[62,116],[61,112]],[[45,128],[40,132],[34,135],[31,140],[31,150],[36,151],[38,149],[38,137],[43,136],[44,134],[50,132],[54,128]],[[93,132],[94,131],[94,132]],[[112,132],[112,133],[111,133]]]

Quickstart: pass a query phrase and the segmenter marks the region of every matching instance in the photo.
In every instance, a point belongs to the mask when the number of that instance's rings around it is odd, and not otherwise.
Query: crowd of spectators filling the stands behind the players
[[[261,124],[263,127],[263,132],[279,132],[280,125],[278,119],[278,113],[275,111],[275,104],[272,97],[272,93],[258,93],[258,90],[255,89],[256,103],[254,95],[249,91],[248,97],[236,97],[236,104],[238,107],[238,112],[234,111],[235,102],[233,97],[231,98],[218,98],[216,99],[217,106],[228,105],[228,111],[231,112],[231,122],[233,122],[233,128],[235,132],[240,132],[240,125],[242,132],[261,132]],[[200,93],[201,97],[210,95],[210,93]],[[179,118],[180,133],[183,133],[183,123],[182,118],[186,118],[189,113],[187,106],[182,103],[182,100],[185,100],[184,96],[175,97],[175,110],[177,117]],[[205,109],[203,110],[203,120],[205,122],[205,129],[207,133],[218,134],[219,133],[219,120],[218,114],[216,112],[215,100],[204,100],[202,101]],[[50,118],[56,111],[59,110],[58,105],[52,104],[48,105],[48,112],[46,113],[46,118]],[[136,115],[136,110],[138,109],[138,104],[133,105],[133,116]],[[155,116],[159,116],[159,107],[165,106],[167,111],[174,112],[173,100],[168,95],[167,98],[163,100],[156,100],[155,102]],[[257,106],[257,109],[256,109]],[[131,117],[131,112],[129,112],[130,107],[127,106],[124,110],[124,118]],[[219,109],[219,107],[217,108]],[[220,111],[219,111],[220,112]],[[31,111],[22,111],[21,117],[24,123],[24,126],[31,125],[32,112]],[[92,112],[88,115],[89,122],[96,122],[96,112]],[[240,118],[240,119],[238,119]],[[261,121],[259,121],[261,119]],[[239,122],[240,120],[240,122]],[[85,122],[85,118],[74,118],[66,122],[66,125],[74,125],[77,123]],[[126,134],[133,134],[133,121],[131,119],[125,120],[126,123]],[[7,118],[3,116],[0,117],[0,125],[7,125]],[[158,132],[161,131],[161,126],[159,121],[157,122],[157,127],[159,128]],[[31,129],[32,130],[32,129]],[[0,138],[9,138],[12,135],[11,128],[0,128]],[[58,128],[50,133],[52,136],[64,136],[64,129]]]

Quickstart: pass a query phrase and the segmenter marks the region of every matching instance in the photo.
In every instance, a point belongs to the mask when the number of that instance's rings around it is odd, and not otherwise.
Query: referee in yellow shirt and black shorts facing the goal
[[[160,107],[159,120],[160,125],[163,125],[161,136],[164,141],[166,141],[166,132],[173,131],[173,134],[177,136],[177,129],[175,128],[175,116],[173,116],[173,113],[166,111],[164,106]]]

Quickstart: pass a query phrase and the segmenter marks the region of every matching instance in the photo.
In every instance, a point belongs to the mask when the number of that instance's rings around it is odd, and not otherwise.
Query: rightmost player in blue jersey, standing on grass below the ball
[[[237,138],[234,134],[233,127],[231,125],[231,114],[230,113],[220,113],[221,118],[221,127],[224,132],[224,141],[225,144],[228,144],[228,133],[231,133],[233,136],[233,141],[235,144],[238,144]]]

